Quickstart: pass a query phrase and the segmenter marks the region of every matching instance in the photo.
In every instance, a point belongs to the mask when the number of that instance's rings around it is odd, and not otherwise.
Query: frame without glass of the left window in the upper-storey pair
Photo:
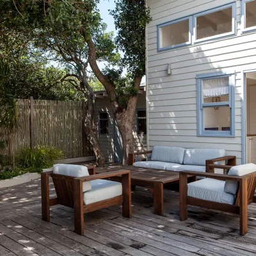
[[[161,48],[160,47],[161,28],[163,28],[165,26],[175,24],[175,23],[179,23],[179,22],[184,21],[184,20],[189,20],[189,41],[186,42],[186,43],[175,44],[175,45],[170,45],[170,46]],[[172,21],[165,22],[163,24],[157,25],[157,51],[164,51],[164,50],[173,49],[173,48],[176,48],[176,47],[182,47],[184,45],[191,45],[191,43],[192,43],[192,31],[193,31],[193,24],[192,24],[192,17],[191,16],[184,17],[184,18],[177,19],[177,20],[172,20]]]

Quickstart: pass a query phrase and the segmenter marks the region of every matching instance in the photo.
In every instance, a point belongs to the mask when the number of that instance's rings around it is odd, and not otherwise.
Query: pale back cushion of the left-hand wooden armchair
[[[88,168],[83,165],[75,165],[75,164],[54,164],[52,166],[53,173],[66,175],[70,177],[84,177],[89,176]],[[83,192],[92,189],[90,181],[83,182]]]

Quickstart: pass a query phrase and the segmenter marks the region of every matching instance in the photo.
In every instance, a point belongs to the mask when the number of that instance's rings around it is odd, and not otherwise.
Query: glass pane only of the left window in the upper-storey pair
[[[160,30],[161,48],[189,42],[189,20],[183,20]]]

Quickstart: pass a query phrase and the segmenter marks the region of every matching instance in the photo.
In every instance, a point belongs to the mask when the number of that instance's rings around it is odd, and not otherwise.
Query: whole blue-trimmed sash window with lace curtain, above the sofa
[[[196,76],[197,136],[235,137],[235,75]]]

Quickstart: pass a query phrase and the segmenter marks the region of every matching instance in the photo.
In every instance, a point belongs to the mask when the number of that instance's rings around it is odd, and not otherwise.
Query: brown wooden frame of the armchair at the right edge
[[[233,180],[238,182],[238,190],[236,195],[234,196],[234,204],[224,204],[220,202],[213,202],[212,200],[203,200],[202,198],[195,198],[188,196],[188,175],[196,175],[196,177],[206,177],[215,180],[222,180],[222,182],[226,182],[226,180]],[[202,183],[209,179],[198,180],[196,182]],[[212,183],[212,180],[209,180],[208,184]],[[192,189],[195,189],[196,182],[190,183],[194,186]],[[220,183],[219,183],[220,184]],[[224,184],[220,184],[223,186]],[[247,233],[248,227],[248,212],[247,205],[253,202],[253,195],[256,188],[256,172],[252,172],[243,176],[235,176],[235,175],[223,175],[216,173],[202,173],[202,172],[180,172],[180,221],[184,221],[188,219],[188,205],[195,205],[198,207],[204,207],[207,209],[214,209],[218,211],[231,212],[234,214],[239,214],[240,217],[240,235],[243,236]],[[214,187],[215,184],[212,184]],[[209,187],[206,187],[208,189]],[[211,188],[209,188],[211,190]],[[212,189],[214,190],[214,189]],[[190,190],[191,191],[191,190]],[[195,195],[195,194],[194,194]],[[200,196],[199,196],[200,197]],[[202,196],[203,197],[203,196]],[[205,196],[207,197],[207,196]]]

